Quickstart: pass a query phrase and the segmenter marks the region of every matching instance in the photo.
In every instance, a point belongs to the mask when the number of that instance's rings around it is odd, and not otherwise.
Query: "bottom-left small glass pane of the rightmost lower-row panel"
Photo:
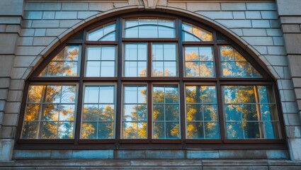
[[[226,123],[227,139],[244,139],[242,123]]]

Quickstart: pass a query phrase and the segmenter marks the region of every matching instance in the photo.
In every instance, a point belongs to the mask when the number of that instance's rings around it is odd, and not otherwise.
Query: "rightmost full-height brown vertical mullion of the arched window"
[[[213,55],[215,58],[215,76],[217,79],[217,111],[219,115],[219,124],[220,124],[220,139],[222,142],[225,142],[225,120],[224,120],[224,108],[222,104],[222,87],[220,85],[220,55],[219,55],[219,49],[217,46],[217,33],[215,30],[212,31],[213,36]]]

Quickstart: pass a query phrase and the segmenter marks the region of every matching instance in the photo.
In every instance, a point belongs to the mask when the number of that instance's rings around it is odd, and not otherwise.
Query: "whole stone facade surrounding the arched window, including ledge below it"
[[[173,155],[174,159],[264,159],[265,162],[257,165],[240,163],[263,168],[273,165],[279,169],[288,165],[300,168],[297,167],[297,162],[301,161],[299,0],[3,0],[0,8],[0,169],[1,166],[11,166],[13,163],[8,162],[16,159],[85,159],[85,155],[89,157],[87,155],[91,154],[98,155],[91,159],[123,159],[128,154],[141,156],[128,159],[166,159],[159,151],[127,153],[126,150],[117,152],[109,149],[91,153],[87,150],[14,149],[24,84],[30,74],[52,50],[81,28],[109,16],[133,11],[174,13],[212,26],[244,48],[278,84],[287,150],[179,150],[166,155]],[[285,159],[286,163],[280,160],[271,162],[271,159]],[[24,166],[25,163],[21,163],[18,166]],[[38,162],[33,166],[36,164]],[[70,164],[77,166],[74,162]],[[205,162],[203,166],[205,164],[210,165]],[[200,166],[190,164],[194,165]],[[234,163],[228,166],[232,165]],[[174,166],[179,165],[174,163]]]

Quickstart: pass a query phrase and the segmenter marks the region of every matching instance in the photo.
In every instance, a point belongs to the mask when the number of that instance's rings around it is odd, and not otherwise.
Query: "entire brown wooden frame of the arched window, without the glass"
[[[123,19],[124,18],[132,18],[132,17],[158,17],[158,18],[172,18],[175,21],[175,38],[123,38]],[[116,23],[116,41],[87,41],[86,35],[89,30],[93,30],[98,26],[102,26],[103,24],[110,23],[115,21]],[[100,21],[94,23],[91,26],[88,26],[78,33],[76,33],[73,37],[77,35],[82,35],[83,39],[72,39],[69,38],[62,42],[62,45],[57,47],[53,52],[50,53],[48,57],[35,69],[35,72],[31,74],[31,76],[25,82],[24,94],[23,94],[23,102],[21,103],[21,114],[18,121],[18,130],[16,133],[16,145],[17,149],[118,149],[118,148],[149,148],[149,149],[186,149],[186,148],[210,148],[210,149],[286,149],[287,146],[285,144],[285,131],[283,125],[283,117],[280,116],[281,106],[279,101],[279,94],[276,86],[276,81],[274,81],[269,74],[256,64],[256,60],[251,57],[242,47],[239,47],[234,41],[229,40],[229,38],[221,35],[227,41],[217,41],[217,34],[220,36],[220,33],[217,33],[216,30],[212,29],[210,26],[205,26],[201,24],[200,28],[204,28],[205,30],[209,30],[212,32],[212,41],[210,42],[183,42],[182,38],[182,29],[181,23],[185,21],[187,23],[192,23],[197,26],[200,23],[191,21],[189,18],[183,18],[176,15],[166,16],[161,15],[161,13],[130,13],[126,16],[117,16],[115,18],[108,18],[104,21]],[[123,42],[146,42],[147,43],[147,77],[123,77]],[[178,77],[151,77],[152,72],[152,42],[175,42],[178,50]],[[38,77],[38,74],[42,72],[48,62],[52,60],[57,53],[62,50],[66,45],[81,45],[81,65],[79,77]],[[116,77],[84,77],[84,66],[86,64],[86,46],[87,45],[116,45],[117,49],[117,60],[116,60],[116,69],[117,76]],[[184,45],[211,45],[214,52],[214,63],[215,63],[215,77],[211,78],[188,78],[184,77],[184,62],[183,62],[183,46]],[[224,78],[220,77],[220,57],[219,57],[219,47],[218,45],[232,45],[237,51],[239,51],[248,62],[262,75],[262,78]],[[219,111],[219,124],[220,124],[220,139],[218,140],[186,140],[186,118],[185,118],[185,91],[184,84],[192,84],[205,82],[210,84],[215,84],[217,87],[217,107]],[[49,82],[57,82],[57,83],[75,83],[78,84],[77,94],[77,111],[76,111],[76,120],[75,120],[75,128],[74,128],[74,139],[71,140],[23,140],[21,139],[22,125],[23,119],[25,115],[25,105],[26,98],[28,95],[28,87],[31,82],[40,82],[40,83],[49,83]],[[82,100],[83,100],[83,91],[84,91],[84,83],[86,82],[113,82],[116,84],[116,111],[115,111],[115,139],[114,140],[82,140],[80,139],[80,130],[81,130],[81,109],[82,109]],[[141,83],[147,84],[147,139],[145,140],[123,140],[120,139],[120,123],[121,123],[121,106],[122,106],[122,84],[123,83]],[[180,106],[180,127],[181,134],[179,140],[154,140],[152,139],[152,84],[154,83],[162,83],[170,84],[176,82],[179,86],[179,106]],[[222,106],[222,85],[271,85],[273,86],[275,98],[276,98],[276,106],[278,111],[278,117],[280,122],[280,130],[282,139],[279,140],[227,140],[225,138],[225,120],[223,116],[223,106]]]

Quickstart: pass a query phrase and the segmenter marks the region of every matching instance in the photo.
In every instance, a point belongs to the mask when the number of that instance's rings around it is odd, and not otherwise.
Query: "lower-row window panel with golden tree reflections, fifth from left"
[[[219,139],[215,86],[186,85],[186,138]]]

